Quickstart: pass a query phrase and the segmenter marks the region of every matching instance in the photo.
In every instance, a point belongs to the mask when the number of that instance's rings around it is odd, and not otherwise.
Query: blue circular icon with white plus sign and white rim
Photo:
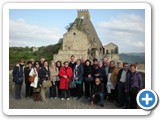
[[[153,90],[141,90],[137,95],[137,103],[144,110],[150,110],[157,104],[157,94]]]

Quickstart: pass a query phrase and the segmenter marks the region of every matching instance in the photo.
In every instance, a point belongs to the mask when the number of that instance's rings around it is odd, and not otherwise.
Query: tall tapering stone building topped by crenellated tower
[[[75,21],[63,35],[62,48],[54,55],[54,60],[69,61],[71,55],[76,58],[92,60],[102,53],[102,43],[90,20],[88,10],[78,10]]]

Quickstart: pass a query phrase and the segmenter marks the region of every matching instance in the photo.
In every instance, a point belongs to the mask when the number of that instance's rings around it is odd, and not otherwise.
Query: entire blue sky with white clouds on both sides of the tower
[[[89,12],[103,45],[115,43],[120,53],[145,52],[144,9],[91,9]],[[76,17],[74,9],[10,9],[9,46],[56,44],[67,32],[65,27]]]

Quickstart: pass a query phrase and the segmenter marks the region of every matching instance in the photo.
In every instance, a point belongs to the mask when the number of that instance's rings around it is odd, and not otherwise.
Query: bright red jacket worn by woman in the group
[[[64,78],[63,76],[67,76],[67,78]],[[59,76],[60,76],[60,84],[59,88],[60,89],[68,89],[68,82],[72,79],[72,68],[67,67],[65,68],[64,66],[61,67],[59,71]]]

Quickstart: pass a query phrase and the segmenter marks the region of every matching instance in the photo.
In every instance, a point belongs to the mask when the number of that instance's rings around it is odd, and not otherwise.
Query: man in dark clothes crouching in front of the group
[[[100,78],[96,77],[95,84],[93,85],[91,93],[91,105],[99,102],[101,107],[104,107],[104,85],[101,83]]]

